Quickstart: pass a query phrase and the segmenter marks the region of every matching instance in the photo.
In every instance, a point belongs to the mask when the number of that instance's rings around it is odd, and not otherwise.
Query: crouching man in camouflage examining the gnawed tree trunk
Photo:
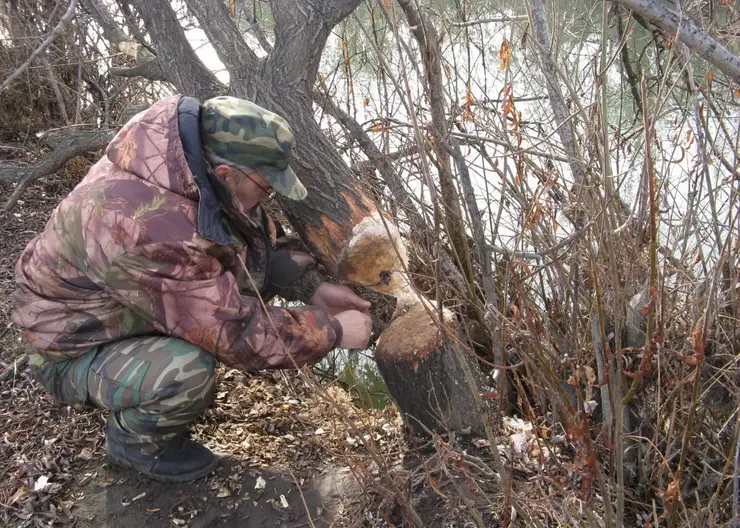
[[[13,320],[55,398],[109,409],[106,449],[152,478],[217,458],[187,427],[216,360],[255,372],[319,361],[370,336],[370,303],[325,282],[262,205],[307,191],[281,117],[231,97],[175,96],[129,121],[16,266]],[[274,295],[311,306],[282,308]]]

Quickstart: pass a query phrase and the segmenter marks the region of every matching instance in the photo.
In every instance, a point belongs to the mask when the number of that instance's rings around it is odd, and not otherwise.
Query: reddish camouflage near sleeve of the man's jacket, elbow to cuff
[[[341,325],[310,307],[262,307],[233,274],[194,244],[156,243],[110,263],[105,289],[118,302],[245,372],[313,364],[341,340]]]

